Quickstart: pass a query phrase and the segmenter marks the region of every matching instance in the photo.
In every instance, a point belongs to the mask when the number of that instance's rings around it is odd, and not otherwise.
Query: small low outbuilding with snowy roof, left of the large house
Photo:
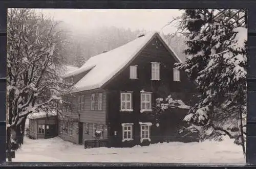
[[[32,139],[52,138],[58,135],[56,112],[35,112],[28,115],[29,137]]]

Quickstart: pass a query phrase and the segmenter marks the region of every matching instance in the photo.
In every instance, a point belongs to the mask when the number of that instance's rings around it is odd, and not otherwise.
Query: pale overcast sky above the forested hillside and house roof
[[[98,27],[118,27],[160,31],[166,23],[181,15],[174,9],[39,9],[56,20],[68,23],[76,31],[94,30]],[[167,26],[164,33],[174,32],[173,26]]]

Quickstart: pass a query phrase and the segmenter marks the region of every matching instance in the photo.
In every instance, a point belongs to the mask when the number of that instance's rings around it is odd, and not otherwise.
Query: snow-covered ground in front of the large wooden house
[[[167,162],[167,163],[245,163],[242,148],[233,140],[222,142],[170,142],[148,147],[94,148],[59,137],[33,140],[25,138],[21,149],[15,152],[16,162]]]

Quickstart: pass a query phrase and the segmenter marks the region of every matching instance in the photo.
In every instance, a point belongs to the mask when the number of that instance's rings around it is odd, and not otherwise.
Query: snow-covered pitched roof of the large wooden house
[[[83,73],[84,71],[90,70],[74,85],[74,92],[100,88],[115,76],[127,63],[129,63],[141,51],[147,42],[157,35],[164,41],[168,50],[174,54],[175,59],[182,62],[161,35],[158,32],[153,32],[136,38],[135,40],[117,47],[112,51],[91,57],[80,68],[67,73],[65,77],[75,76]]]

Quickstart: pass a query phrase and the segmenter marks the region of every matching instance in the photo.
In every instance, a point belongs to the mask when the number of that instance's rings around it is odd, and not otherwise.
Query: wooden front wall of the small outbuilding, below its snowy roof
[[[44,130],[40,131],[39,128],[41,127],[44,128]],[[58,135],[57,116],[29,119],[29,137],[30,138],[43,139],[43,138],[52,138],[57,135]]]

